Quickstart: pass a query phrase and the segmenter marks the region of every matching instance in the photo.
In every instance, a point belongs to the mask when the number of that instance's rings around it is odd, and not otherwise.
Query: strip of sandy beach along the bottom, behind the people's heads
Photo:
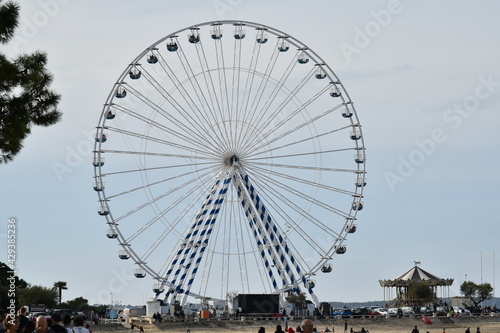
[[[348,331],[351,327],[355,332],[360,331],[362,327],[370,333],[410,333],[417,326],[420,333],[442,333],[443,328],[446,333],[464,333],[467,327],[470,327],[471,333],[476,332],[479,327],[481,333],[499,333],[500,332],[500,316],[499,317],[437,317],[431,318],[432,324],[427,325],[419,318],[367,318],[367,319],[347,319]],[[344,332],[344,319],[322,319],[313,320],[318,332],[325,332],[328,327],[332,331],[332,324],[335,325],[336,333]],[[299,325],[300,320],[291,320],[289,325],[293,328]],[[246,320],[246,321],[228,321],[228,320],[200,320],[200,321],[167,321],[162,324],[149,324],[146,322],[134,322],[135,325],[143,326],[145,333],[155,332],[173,332],[186,333],[189,330],[192,333],[213,333],[213,332],[257,332],[259,327],[264,327],[267,333],[274,333],[276,325],[282,325],[282,320]],[[131,333],[130,324],[101,324],[92,325],[93,333]],[[136,328],[134,333],[139,333]]]

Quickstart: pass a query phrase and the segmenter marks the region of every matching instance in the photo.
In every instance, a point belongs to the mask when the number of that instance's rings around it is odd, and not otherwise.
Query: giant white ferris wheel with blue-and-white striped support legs
[[[347,91],[269,26],[206,22],[125,66],[100,115],[98,213],[155,299],[308,292],[346,252],[365,146]]]

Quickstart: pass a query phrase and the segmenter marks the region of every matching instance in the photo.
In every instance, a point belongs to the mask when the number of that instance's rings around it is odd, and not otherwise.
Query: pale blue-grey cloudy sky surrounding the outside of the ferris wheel
[[[43,50],[61,94],[62,121],[33,128],[0,172],[0,247],[16,221],[16,269],[33,285],[67,282],[63,300],[144,304],[105,237],[92,190],[94,131],[124,68],[185,27],[243,20],[310,46],[342,80],[366,145],[368,185],[358,231],[333,272],[327,301],[383,300],[379,279],[420,267],[455,282],[495,286],[500,249],[500,5],[484,1],[21,1],[13,56]],[[495,185],[496,184],[496,185]],[[0,251],[0,261],[7,261]],[[498,293],[496,293],[498,295]]]

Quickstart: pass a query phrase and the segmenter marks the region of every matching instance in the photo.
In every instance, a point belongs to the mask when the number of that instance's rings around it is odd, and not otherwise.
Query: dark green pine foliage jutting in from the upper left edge
[[[19,5],[0,0],[0,43],[7,43],[18,24]],[[50,90],[47,55],[36,51],[13,60],[0,53],[0,163],[12,161],[33,125],[50,126],[61,114],[60,95]]]

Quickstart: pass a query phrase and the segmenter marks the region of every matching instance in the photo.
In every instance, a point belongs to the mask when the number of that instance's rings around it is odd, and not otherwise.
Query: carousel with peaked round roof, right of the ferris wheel
[[[396,278],[379,280],[380,286],[384,288],[384,302],[389,301],[394,305],[415,304],[415,301],[419,301],[419,299],[416,299],[413,291],[420,284],[429,286],[433,300],[450,297],[450,286],[453,284],[453,279],[437,277],[423,270],[419,265],[420,262],[416,261],[415,266]]]

